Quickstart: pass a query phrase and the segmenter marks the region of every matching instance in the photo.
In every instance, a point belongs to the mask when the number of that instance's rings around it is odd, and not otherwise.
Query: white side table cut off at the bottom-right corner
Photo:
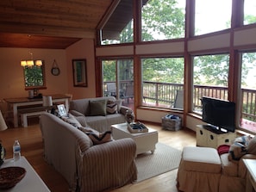
[[[247,166],[247,192],[256,190],[256,159],[243,159]],[[254,189],[254,190],[253,190]]]

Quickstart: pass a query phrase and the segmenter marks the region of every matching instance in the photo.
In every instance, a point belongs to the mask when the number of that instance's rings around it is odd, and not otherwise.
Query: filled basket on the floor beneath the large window
[[[162,117],[162,127],[165,130],[178,131],[181,129],[181,118],[179,116],[171,118],[170,115],[166,115]]]

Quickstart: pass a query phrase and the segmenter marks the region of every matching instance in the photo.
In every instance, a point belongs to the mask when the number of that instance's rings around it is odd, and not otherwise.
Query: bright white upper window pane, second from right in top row
[[[232,0],[196,0],[195,34],[230,28]]]

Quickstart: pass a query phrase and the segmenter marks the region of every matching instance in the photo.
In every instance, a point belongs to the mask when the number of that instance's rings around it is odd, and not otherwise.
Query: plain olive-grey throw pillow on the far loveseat
[[[90,101],[90,115],[91,116],[97,116],[102,115],[106,116],[106,100],[96,100],[96,101]]]

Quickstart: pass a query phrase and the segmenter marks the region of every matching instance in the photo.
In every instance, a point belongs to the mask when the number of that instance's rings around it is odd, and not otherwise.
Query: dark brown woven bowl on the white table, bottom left
[[[6,167],[0,170],[0,189],[10,189],[26,175],[22,167]]]

